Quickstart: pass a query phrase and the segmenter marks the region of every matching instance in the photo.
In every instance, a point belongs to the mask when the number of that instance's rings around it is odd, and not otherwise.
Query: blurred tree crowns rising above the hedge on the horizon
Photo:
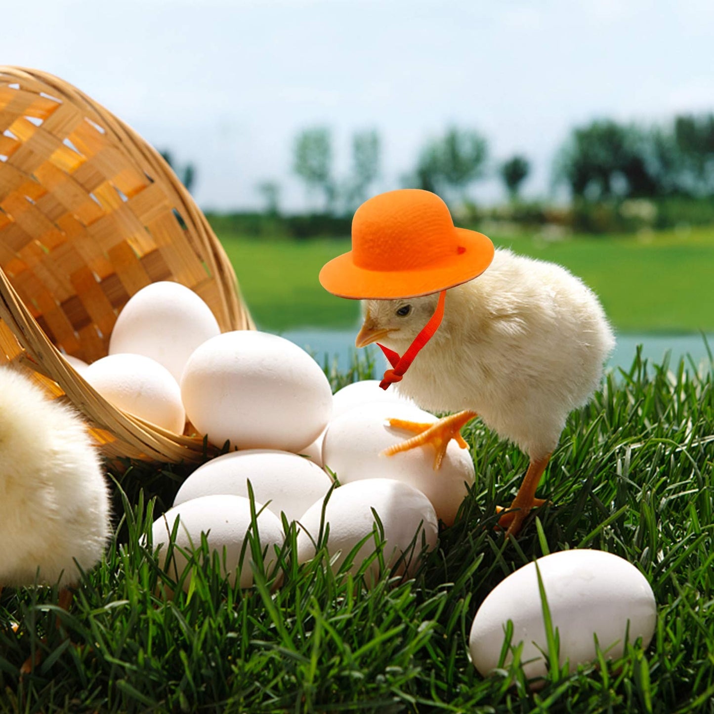
[[[376,130],[353,134],[351,169],[338,178],[331,131],[324,126],[304,129],[293,143],[292,171],[305,184],[313,206],[320,198],[319,211],[346,215],[370,195],[381,175],[381,149]],[[496,174],[516,202],[530,171],[530,161],[521,154],[490,161],[488,141],[480,132],[452,126],[426,141],[401,186],[464,203],[473,201],[474,183]],[[714,196],[714,114],[675,116],[657,126],[603,119],[575,127],[555,156],[552,185],[567,187],[574,203]],[[278,183],[266,181],[258,188],[267,212],[277,214]]]

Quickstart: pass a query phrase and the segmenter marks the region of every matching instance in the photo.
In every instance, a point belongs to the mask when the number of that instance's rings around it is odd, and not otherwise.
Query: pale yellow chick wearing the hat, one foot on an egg
[[[356,346],[379,341],[402,354],[437,300],[438,293],[363,301]],[[448,435],[478,414],[528,454],[521,488],[500,521],[515,535],[543,503],[535,489],[568,413],[593,396],[614,344],[598,298],[582,281],[554,263],[501,249],[481,276],[446,292],[441,327],[395,387],[428,411],[470,410],[450,418]],[[444,441],[443,432],[432,428],[407,445],[432,438]]]

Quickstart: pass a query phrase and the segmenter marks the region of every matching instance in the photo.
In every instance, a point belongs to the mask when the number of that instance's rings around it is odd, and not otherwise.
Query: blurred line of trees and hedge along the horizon
[[[383,188],[383,144],[375,129],[351,136],[351,162],[343,175],[334,169],[333,136],[325,126],[303,129],[293,141],[291,171],[303,181],[309,208],[281,212],[281,186],[263,181],[258,191],[263,210],[211,216],[225,228],[260,236],[306,238],[349,232],[354,210]],[[190,191],[193,164],[178,166],[164,158]],[[656,125],[611,119],[590,121],[570,131],[551,171],[553,189],[565,188],[570,205],[549,198],[523,201],[521,188],[531,171],[528,157],[491,158],[488,141],[476,129],[451,126],[429,138],[411,169],[394,188],[426,188],[463,208],[461,221],[511,221],[545,224],[590,233],[636,231],[714,223],[714,114],[681,114]],[[498,176],[508,194],[500,206],[478,205],[474,184]],[[640,200],[643,199],[643,200]],[[226,222],[227,221],[227,222]]]

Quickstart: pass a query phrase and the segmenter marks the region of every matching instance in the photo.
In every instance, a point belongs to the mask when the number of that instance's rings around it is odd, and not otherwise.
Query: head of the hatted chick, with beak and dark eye
[[[438,298],[438,293],[433,293],[418,298],[363,300],[363,323],[355,345],[381,342],[403,353],[436,311]]]

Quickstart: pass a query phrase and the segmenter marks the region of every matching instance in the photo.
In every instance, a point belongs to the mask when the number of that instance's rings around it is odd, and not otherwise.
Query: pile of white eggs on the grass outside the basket
[[[384,448],[408,437],[389,426],[388,417],[419,421],[436,421],[436,417],[387,395],[376,381],[351,384],[331,401],[333,418],[304,450],[307,458],[284,447],[244,448],[199,466],[179,488],[173,508],[154,523],[154,547],[166,550],[178,517],[179,546],[200,543],[201,533],[208,533],[211,549],[225,549],[222,562],[233,566],[223,575],[231,583],[239,578],[241,586],[251,585],[251,565],[238,563],[238,555],[241,550],[248,552],[243,543],[251,527],[252,492],[260,543],[266,549],[266,570],[276,562],[285,518],[298,524],[299,563],[314,557],[326,524],[326,546],[334,570],[363,541],[350,566],[355,573],[374,553],[376,540],[371,535],[376,512],[382,528],[378,540],[383,544],[383,563],[387,568],[396,565],[395,573],[412,573],[418,556],[436,546],[439,519],[453,523],[473,483],[473,461],[456,444],[449,447],[442,462],[443,473],[433,471],[430,447],[382,456]],[[247,418],[251,418],[249,413]],[[323,458],[326,468],[321,466]],[[333,461],[336,468],[330,466]],[[332,473],[340,480],[338,488],[333,488]],[[179,560],[163,563],[175,579],[186,564],[182,557]],[[378,567],[374,558],[366,566],[367,584],[378,578]],[[184,588],[190,582],[189,575],[183,580]]]

